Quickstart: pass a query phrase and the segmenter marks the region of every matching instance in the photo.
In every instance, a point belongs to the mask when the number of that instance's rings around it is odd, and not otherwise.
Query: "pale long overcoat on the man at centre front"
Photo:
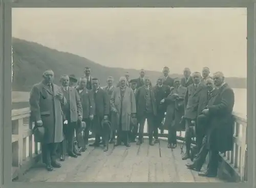
[[[110,99],[110,105],[112,110],[117,110],[117,113],[113,113],[112,116],[112,122],[115,125],[115,128],[118,129],[118,125],[121,123],[122,130],[130,130],[132,114],[136,114],[136,100],[133,90],[129,87],[126,87],[123,100],[121,101],[120,88],[115,88]],[[120,114],[122,114],[121,122],[119,122]]]

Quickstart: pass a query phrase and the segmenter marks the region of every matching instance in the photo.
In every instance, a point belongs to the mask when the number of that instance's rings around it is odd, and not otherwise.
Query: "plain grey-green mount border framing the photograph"
[[[150,183],[150,182],[12,182],[11,165],[11,9],[12,8],[247,8],[247,130],[248,181],[246,183]],[[224,186],[256,187],[256,1],[255,0],[0,0],[0,186],[14,188],[92,187],[163,187],[190,188]],[[254,178],[253,178],[254,177]]]

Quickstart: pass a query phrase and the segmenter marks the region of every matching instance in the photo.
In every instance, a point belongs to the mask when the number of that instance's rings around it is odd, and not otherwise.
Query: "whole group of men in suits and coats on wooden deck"
[[[131,142],[140,145],[147,120],[151,146],[159,142],[158,129],[163,132],[165,127],[167,147],[176,148],[176,133],[185,130],[186,152],[182,159],[190,157],[191,138],[196,137],[197,156],[193,164],[186,166],[200,171],[209,152],[209,168],[200,175],[215,176],[218,152],[232,147],[234,94],[224,82],[223,73],[217,72],[212,78],[209,73],[209,68],[204,67],[202,75],[200,72],[191,75],[189,68],[185,68],[183,78],[171,78],[169,68],[164,67],[163,75],[153,86],[141,69],[139,78],[130,79],[126,72],[116,86],[113,76],[109,76],[107,86],[100,87],[99,79],[92,77],[90,67],[86,67],[79,79],[63,75],[58,87],[53,84],[53,71],[45,71],[43,80],[31,90],[30,106],[34,130],[44,127],[40,142],[47,170],[61,167],[56,160],[58,154],[63,161],[66,153],[77,157],[86,151],[89,131],[95,137],[90,146],[103,145],[104,151],[108,151],[109,143],[126,147]]]

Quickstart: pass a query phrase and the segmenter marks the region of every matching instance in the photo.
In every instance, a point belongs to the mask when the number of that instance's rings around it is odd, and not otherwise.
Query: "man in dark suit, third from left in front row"
[[[86,88],[87,79],[81,77],[79,79],[79,88],[77,91],[79,93],[81,104],[82,104],[82,121],[86,123],[86,129],[84,130],[84,135],[82,138],[83,143],[78,142],[78,147],[84,152],[87,149],[89,130],[91,129],[92,120],[95,115],[95,102],[93,98],[93,92]]]

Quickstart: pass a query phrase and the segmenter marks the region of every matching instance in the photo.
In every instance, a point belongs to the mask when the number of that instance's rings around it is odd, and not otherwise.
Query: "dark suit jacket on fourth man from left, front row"
[[[98,92],[95,94],[92,91],[95,102],[95,115],[99,118],[103,118],[105,115],[109,115],[110,113],[110,101],[108,94],[99,88]]]

